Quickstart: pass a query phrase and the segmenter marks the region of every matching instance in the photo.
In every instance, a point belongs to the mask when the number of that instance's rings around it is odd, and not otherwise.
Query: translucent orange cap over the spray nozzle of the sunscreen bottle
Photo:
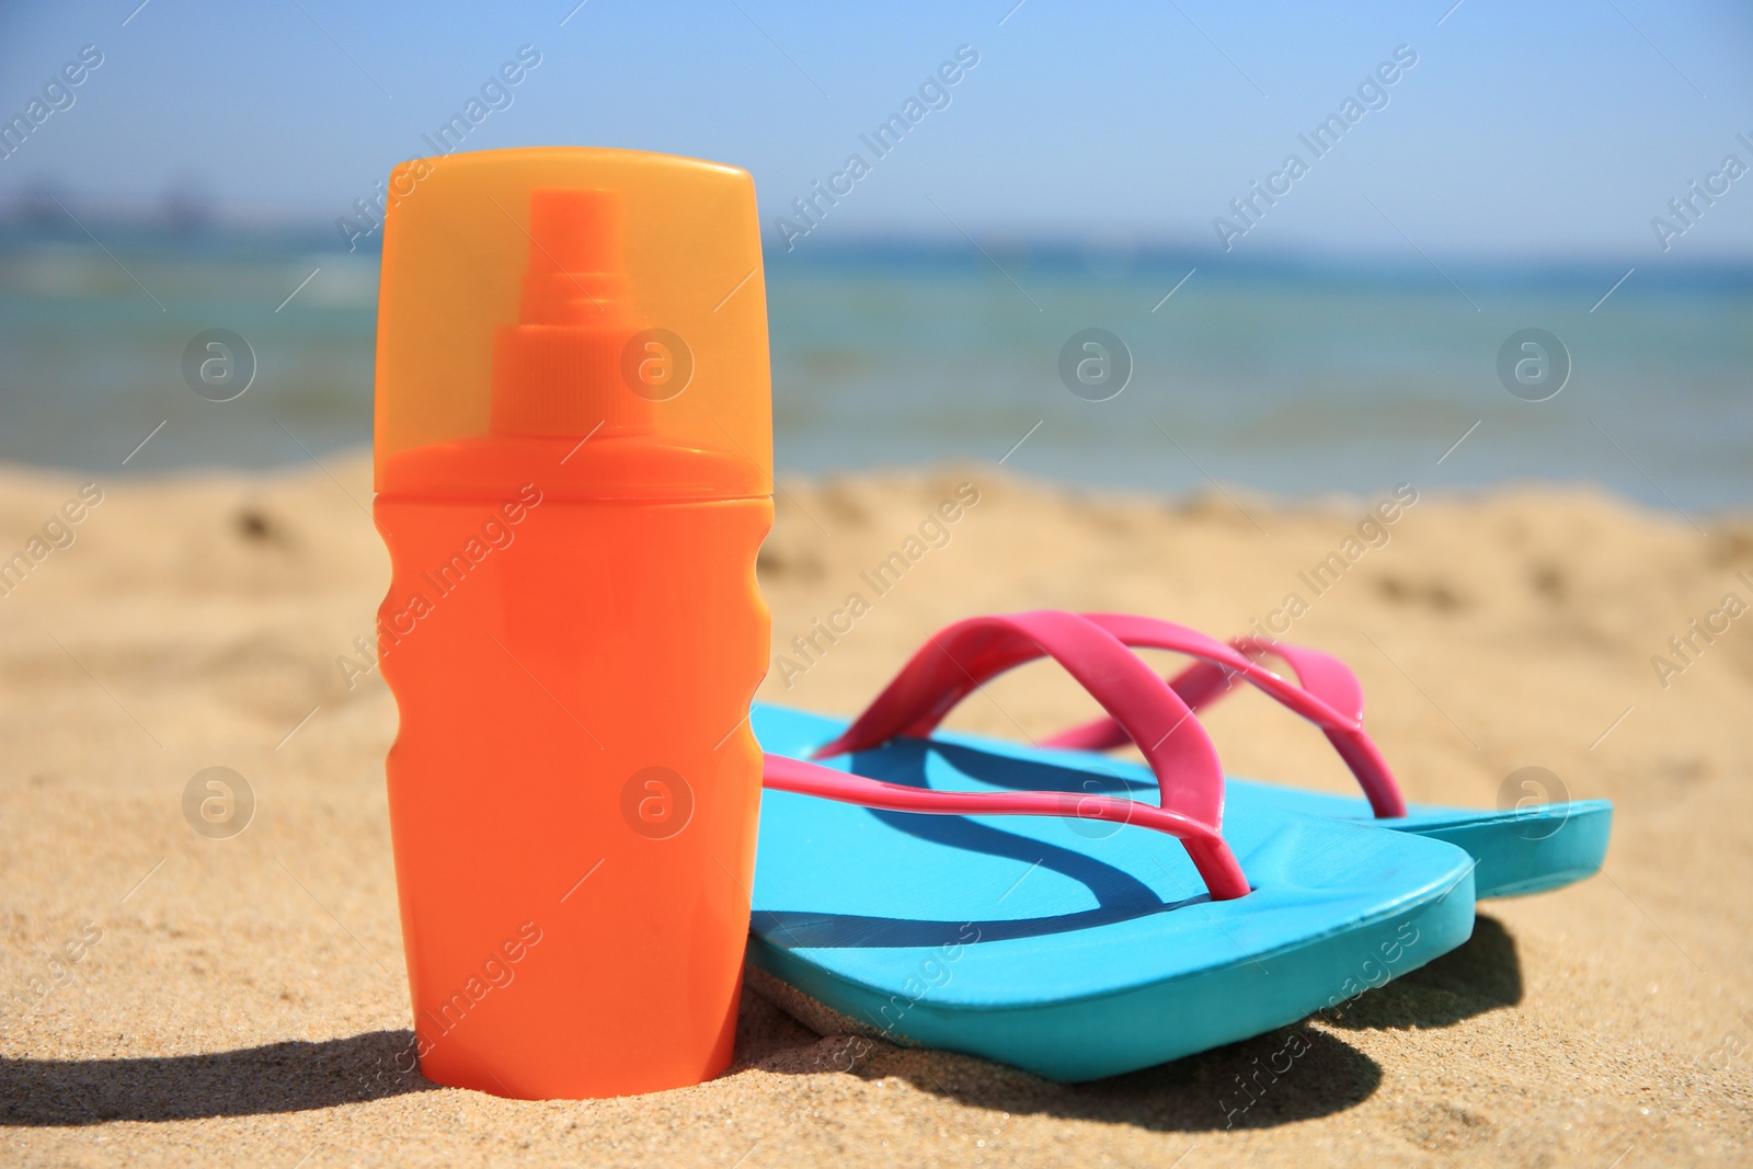
[[[373,436],[384,494],[770,494],[749,172],[582,147],[396,166]]]

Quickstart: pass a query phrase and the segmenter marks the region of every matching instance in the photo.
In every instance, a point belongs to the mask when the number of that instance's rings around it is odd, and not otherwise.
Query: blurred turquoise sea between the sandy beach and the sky
[[[0,457],[163,473],[370,442],[375,252],[324,228],[86,228],[0,231]],[[1550,480],[1688,514],[1753,505],[1749,266],[887,240],[773,249],[766,282],[782,473],[1004,459],[1138,491]],[[1061,377],[1090,328],[1131,356],[1106,401]],[[1544,401],[1499,375],[1530,328],[1569,358]],[[235,401],[184,382],[205,329],[256,354]]]

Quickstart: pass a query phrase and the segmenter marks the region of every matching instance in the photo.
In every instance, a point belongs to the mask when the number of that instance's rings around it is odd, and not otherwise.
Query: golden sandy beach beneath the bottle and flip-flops
[[[862,573],[964,485],[976,503],[871,591]],[[1169,501],[990,466],[782,480],[764,699],[852,713],[969,613],[1259,622],[1353,664],[1409,797],[1494,806],[1537,766],[1616,803],[1602,875],[1485,903],[1462,950],[1292,1027],[1308,1053],[1225,1127],[1220,1099],[1287,1032],[1062,1087],[887,1045],[852,1059],[745,990],[738,1062],[696,1088],[517,1102],[398,1074],[396,712],[375,671],[337,661],[359,657],[387,582],[368,461],[0,468],[0,559],[28,561],[0,587],[0,1160],[1753,1162],[1753,519],[1406,491]],[[798,652],[854,592],[852,629]],[[1022,738],[1090,713],[1033,666],[952,726]],[[1234,775],[1348,789],[1322,736],[1257,696],[1208,726]],[[256,804],[228,840],[182,811],[212,766]]]

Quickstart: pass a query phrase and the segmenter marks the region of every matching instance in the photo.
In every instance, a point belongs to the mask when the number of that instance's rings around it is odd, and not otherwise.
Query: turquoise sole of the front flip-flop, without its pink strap
[[[808,755],[843,727],[754,710],[775,754]],[[943,734],[829,766],[934,789],[1131,787],[1120,761],[1092,771],[1066,754]],[[894,1041],[1076,1081],[1292,1024],[1471,936],[1466,852],[1283,810],[1255,787],[1232,783],[1224,817],[1253,892],[1224,903],[1148,829],[766,792],[750,962]],[[1139,794],[1155,803],[1155,782]]]

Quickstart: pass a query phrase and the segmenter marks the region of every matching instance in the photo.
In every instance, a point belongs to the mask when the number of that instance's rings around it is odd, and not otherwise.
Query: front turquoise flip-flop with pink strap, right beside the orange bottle
[[[1148,745],[1157,803],[1096,790],[1122,783],[1101,755],[933,734],[976,680],[1036,657]],[[1458,848],[1253,792],[1225,815],[1187,703],[1076,613],[950,626],[852,726],[752,720],[750,981],[819,1031],[1094,1080],[1292,1024],[1473,932]]]

